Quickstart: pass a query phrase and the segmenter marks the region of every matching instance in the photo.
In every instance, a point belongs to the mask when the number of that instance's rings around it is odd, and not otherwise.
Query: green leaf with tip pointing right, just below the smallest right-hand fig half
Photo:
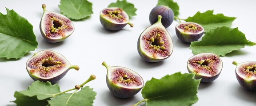
[[[191,42],[190,49],[194,54],[208,52],[225,56],[234,50],[244,48],[245,45],[252,46],[256,43],[248,41],[238,28],[223,26],[209,30],[201,41]]]

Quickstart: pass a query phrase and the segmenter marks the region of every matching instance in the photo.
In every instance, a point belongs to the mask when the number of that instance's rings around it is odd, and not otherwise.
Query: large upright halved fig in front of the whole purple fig
[[[159,62],[172,54],[172,38],[162,25],[161,18],[158,15],[158,21],[146,28],[138,39],[137,50],[144,61]]]

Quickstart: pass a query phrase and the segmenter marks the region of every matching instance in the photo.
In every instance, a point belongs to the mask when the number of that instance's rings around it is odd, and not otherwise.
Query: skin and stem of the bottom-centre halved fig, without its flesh
[[[121,87],[118,84],[112,83],[112,81],[108,78],[108,72],[111,71],[109,70],[109,67],[116,67],[116,66],[109,66],[105,61],[102,63],[102,65],[107,68],[106,83],[109,91],[111,91],[114,96],[118,98],[130,98],[136,95],[144,87],[143,79],[136,72],[135,73],[137,74],[138,77],[140,77],[142,81],[141,82],[142,84],[140,85],[140,87],[128,88],[128,87]],[[120,68],[124,68],[124,67],[120,67]]]

